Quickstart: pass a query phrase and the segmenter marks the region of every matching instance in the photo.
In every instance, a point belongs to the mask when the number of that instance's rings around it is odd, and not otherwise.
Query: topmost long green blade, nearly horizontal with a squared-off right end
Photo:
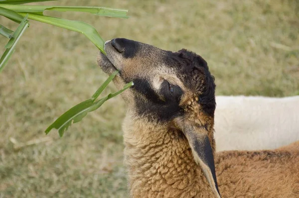
[[[13,10],[15,12],[37,12],[42,13],[44,10],[55,11],[78,11],[88,12],[99,16],[110,16],[119,18],[128,18],[128,10],[114,9],[108,7],[90,7],[90,6],[53,6],[53,5],[11,5],[1,4],[6,9]]]

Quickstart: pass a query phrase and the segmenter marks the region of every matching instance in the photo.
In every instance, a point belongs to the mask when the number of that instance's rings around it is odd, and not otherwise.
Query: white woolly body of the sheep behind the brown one
[[[216,151],[276,149],[299,140],[299,96],[216,96]]]

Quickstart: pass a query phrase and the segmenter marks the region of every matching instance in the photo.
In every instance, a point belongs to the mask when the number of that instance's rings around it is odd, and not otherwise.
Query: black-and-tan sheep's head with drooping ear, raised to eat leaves
[[[213,192],[220,197],[213,151],[215,83],[206,61],[185,49],[165,51],[124,38],[105,43],[98,57],[103,71],[119,70],[114,84],[134,86],[122,94],[135,117],[161,122],[180,131],[188,140],[194,160]]]

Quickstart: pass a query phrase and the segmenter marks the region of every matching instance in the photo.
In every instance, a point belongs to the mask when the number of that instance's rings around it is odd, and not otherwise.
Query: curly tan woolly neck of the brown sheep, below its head
[[[200,192],[214,196],[180,132],[129,116],[123,130],[131,197],[200,197]],[[213,140],[212,131],[209,138]]]

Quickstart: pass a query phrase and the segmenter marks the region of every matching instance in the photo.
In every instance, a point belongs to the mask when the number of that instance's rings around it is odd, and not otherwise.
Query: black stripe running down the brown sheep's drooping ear
[[[210,168],[213,179],[214,179],[215,187],[217,189],[218,194],[220,195],[219,190],[218,190],[216,173],[215,173],[213,151],[211,148],[209,138],[208,138],[208,136],[205,136],[204,139],[200,140],[200,141],[197,138],[194,138],[194,139],[195,139],[195,141],[193,143],[194,150],[198,154],[199,158]]]

